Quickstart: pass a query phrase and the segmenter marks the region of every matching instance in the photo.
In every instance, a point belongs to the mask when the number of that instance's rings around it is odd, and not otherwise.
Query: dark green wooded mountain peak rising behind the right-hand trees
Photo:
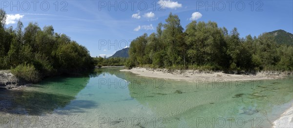
[[[293,45],[293,34],[290,32],[286,32],[284,30],[276,30],[268,32],[268,34],[272,34],[275,37],[275,41],[277,44]]]

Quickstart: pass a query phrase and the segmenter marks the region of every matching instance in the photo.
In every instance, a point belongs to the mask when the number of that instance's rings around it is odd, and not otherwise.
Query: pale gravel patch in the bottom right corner
[[[293,106],[273,122],[273,128],[293,128]]]

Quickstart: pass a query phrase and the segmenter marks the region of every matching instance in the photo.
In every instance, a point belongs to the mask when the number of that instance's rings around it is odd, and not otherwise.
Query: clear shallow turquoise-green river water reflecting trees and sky
[[[101,68],[89,77],[51,78],[21,90],[0,90],[1,127],[271,127],[293,101],[290,77],[186,82],[120,69]],[[18,118],[19,124],[13,124]]]

